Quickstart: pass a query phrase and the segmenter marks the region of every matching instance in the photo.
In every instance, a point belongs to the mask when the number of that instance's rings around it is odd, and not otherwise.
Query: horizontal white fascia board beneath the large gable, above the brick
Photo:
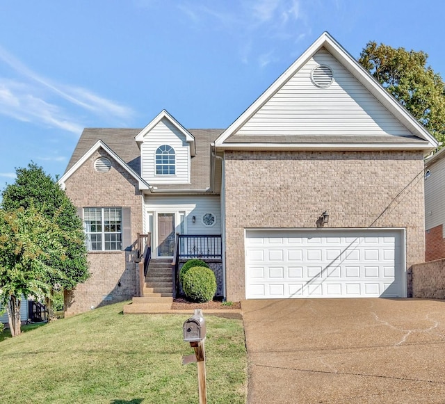
[[[424,155],[431,151],[430,145],[419,143],[224,143],[218,150],[302,150],[302,151],[375,151],[375,150],[423,150]]]

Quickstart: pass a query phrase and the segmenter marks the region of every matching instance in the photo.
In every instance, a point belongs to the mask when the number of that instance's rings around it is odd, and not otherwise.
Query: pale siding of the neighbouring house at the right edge
[[[445,156],[426,170],[430,170],[425,179],[425,228],[429,230],[445,225]]]

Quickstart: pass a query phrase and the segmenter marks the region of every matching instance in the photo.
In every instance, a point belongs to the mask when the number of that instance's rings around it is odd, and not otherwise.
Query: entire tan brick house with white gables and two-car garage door
[[[410,296],[436,147],[329,33],[227,129],[185,129],[167,111],[144,129],[85,129],[59,183],[93,275],[67,310],[138,295],[138,234],[150,265],[220,257],[227,300]]]

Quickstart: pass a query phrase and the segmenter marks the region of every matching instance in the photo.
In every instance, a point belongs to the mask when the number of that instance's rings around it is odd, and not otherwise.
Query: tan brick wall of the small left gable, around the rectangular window
[[[99,173],[94,162],[100,156],[111,161],[111,170]],[[131,208],[131,239],[142,233],[142,196],[138,183],[104,150],[93,154],[66,181],[66,193],[76,207]],[[92,276],[65,294],[65,315],[69,316],[107,303],[129,300],[137,293],[138,269],[133,251],[88,253]],[[120,282],[120,286],[119,286]],[[112,300],[103,300],[103,296]]]

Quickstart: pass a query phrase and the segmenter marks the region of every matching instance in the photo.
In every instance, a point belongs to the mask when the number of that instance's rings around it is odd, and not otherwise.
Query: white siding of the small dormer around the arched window
[[[156,149],[169,145],[175,150],[176,174],[155,175]],[[141,173],[143,179],[152,184],[189,184],[190,183],[190,150],[186,137],[166,118],[159,121],[149,131],[140,146]]]

